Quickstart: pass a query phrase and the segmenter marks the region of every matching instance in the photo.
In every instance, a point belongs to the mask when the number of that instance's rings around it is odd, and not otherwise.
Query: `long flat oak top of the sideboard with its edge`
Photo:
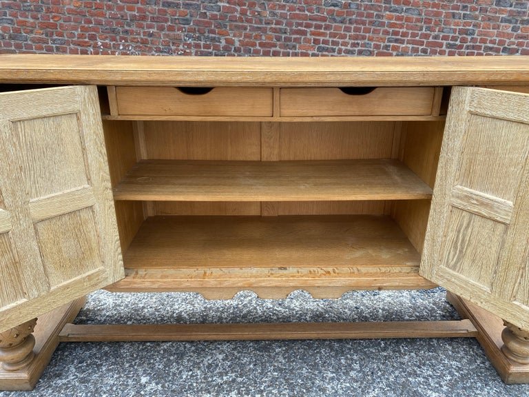
[[[0,83],[98,85],[473,85],[529,83],[529,56],[136,57],[0,55]]]

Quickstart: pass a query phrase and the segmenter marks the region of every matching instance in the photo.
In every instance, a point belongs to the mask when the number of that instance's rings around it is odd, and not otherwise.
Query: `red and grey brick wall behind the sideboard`
[[[528,0],[0,0],[0,53],[529,54]]]

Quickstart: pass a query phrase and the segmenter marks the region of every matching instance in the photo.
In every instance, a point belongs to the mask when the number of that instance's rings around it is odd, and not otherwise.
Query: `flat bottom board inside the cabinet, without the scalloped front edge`
[[[154,216],[127,268],[416,266],[417,252],[385,216]],[[171,265],[173,264],[174,265]]]

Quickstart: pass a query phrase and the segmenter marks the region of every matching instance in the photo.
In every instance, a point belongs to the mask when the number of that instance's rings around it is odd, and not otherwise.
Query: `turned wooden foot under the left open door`
[[[32,332],[36,324],[37,318],[33,318],[0,333],[0,364],[4,370],[17,371],[31,363],[35,356]]]

